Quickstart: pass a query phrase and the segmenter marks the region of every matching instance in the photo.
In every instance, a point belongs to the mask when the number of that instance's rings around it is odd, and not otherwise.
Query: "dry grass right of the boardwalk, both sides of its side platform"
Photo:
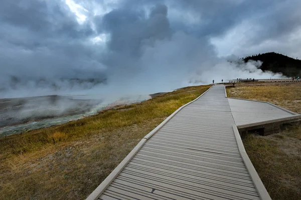
[[[237,84],[227,94],[301,112],[300,83]],[[243,143],[272,199],[301,199],[301,127],[268,136],[248,134]]]

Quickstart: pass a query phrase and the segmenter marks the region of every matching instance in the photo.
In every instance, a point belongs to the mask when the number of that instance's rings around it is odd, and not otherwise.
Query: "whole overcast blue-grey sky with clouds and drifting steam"
[[[224,60],[301,57],[300,10],[300,0],[1,0],[0,97],[93,87],[72,78],[156,92],[269,77]]]

